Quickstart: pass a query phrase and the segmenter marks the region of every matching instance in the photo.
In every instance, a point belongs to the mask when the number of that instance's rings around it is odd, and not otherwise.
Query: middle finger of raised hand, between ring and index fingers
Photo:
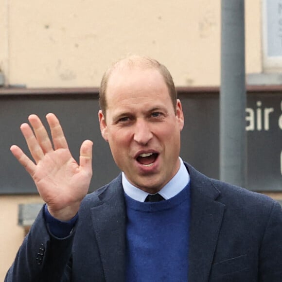
[[[28,117],[28,120],[34,129],[36,139],[43,153],[53,151],[52,143],[50,141],[48,133],[44,125],[41,123],[40,119],[36,115],[30,115]]]

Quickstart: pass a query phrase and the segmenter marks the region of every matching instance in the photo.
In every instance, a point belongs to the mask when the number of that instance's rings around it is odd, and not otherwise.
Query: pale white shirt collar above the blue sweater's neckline
[[[180,167],[176,175],[159,191],[159,194],[165,199],[170,199],[178,194],[189,183],[190,176],[183,163],[183,160],[179,157]],[[144,202],[148,193],[132,185],[122,173],[123,191],[129,197],[136,201]]]

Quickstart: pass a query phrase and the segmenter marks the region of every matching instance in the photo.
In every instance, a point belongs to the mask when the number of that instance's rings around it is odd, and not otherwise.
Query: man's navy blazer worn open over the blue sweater
[[[282,211],[271,198],[197,172],[191,176],[189,282],[282,282]],[[126,212],[121,175],[88,194],[64,239],[43,211],[5,282],[124,282]]]

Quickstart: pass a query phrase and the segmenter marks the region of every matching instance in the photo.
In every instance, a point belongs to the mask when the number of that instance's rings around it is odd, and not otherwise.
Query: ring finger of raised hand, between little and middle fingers
[[[23,123],[20,125],[20,130],[25,138],[32,157],[34,158],[35,162],[38,163],[38,161],[44,157],[44,153],[38,144],[31,127],[29,124]]]

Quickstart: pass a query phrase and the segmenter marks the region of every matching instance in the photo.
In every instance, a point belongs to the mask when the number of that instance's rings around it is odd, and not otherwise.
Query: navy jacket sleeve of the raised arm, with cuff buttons
[[[42,209],[19,248],[4,282],[71,281],[74,232],[64,239],[50,235]]]

